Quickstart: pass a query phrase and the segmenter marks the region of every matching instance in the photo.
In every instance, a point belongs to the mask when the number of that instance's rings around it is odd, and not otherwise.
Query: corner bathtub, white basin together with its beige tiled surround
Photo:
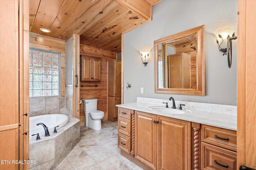
[[[80,120],[76,117],[68,117],[62,114],[49,114],[30,117],[30,141],[29,158],[36,160],[36,164],[30,164],[34,169],[54,169],[69,154],[80,141]],[[37,123],[44,123],[50,136],[44,137],[44,128]],[[53,133],[54,127],[58,126],[57,133]],[[39,133],[40,140],[36,141]]]

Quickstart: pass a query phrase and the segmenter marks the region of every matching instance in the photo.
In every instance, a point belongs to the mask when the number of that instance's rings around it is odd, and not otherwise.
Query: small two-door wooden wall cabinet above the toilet
[[[100,60],[99,58],[80,55],[80,81],[100,82]]]

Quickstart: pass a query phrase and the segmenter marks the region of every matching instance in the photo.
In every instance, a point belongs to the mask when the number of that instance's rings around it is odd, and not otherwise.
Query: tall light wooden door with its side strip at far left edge
[[[1,170],[29,168],[16,163],[29,159],[28,12],[28,1],[0,1]]]

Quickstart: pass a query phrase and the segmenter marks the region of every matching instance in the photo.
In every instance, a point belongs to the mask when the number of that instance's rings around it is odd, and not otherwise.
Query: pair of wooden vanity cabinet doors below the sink
[[[152,169],[191,169],[191,122],[135,111],[135,158]]]

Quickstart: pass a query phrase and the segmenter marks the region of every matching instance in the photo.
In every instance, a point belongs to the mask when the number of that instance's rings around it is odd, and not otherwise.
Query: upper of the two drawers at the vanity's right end
[[[236,151],[236,131],[202,125],[202,142]]]

